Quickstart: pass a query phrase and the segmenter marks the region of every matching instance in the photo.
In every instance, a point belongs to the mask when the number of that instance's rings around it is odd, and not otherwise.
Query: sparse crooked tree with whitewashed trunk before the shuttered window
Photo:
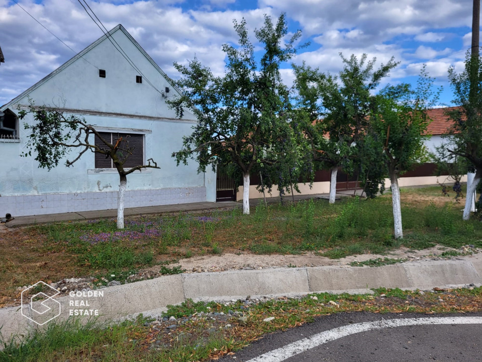
[[[126,169],[124,163],[127,161],[133,146],[129,145],[129,139],[119,137],[114,144],[111,140],[106,140],[95,130],[93,125],[85,122],[83,118],[74,115],[64,115],[56,108],[46,106],[35,106],[29,100],[28,110],[20,110],[19,117],[24,119],[28,114],[33,115],[34,124],[24,123],[26,130],[31,133],[28,136],[27,151],[23,156],[31,156],[32,150],[37,154],[35,160],[39,162],[39,167],[50,170],[58,166],[59,161],[64,158],[71,149],[78,149],[79,152],[72,160],[66,160],[67,167],[72,166],[85,152],[91,151],[111,158],[117,172],[119,173],[120,185],[118,192],[117,207],[117,228],[124,228],[124,196],[127,186],[127,175],[143,168],[160,168],[157,163],[150,158],[147,165],[137,165]],[[102,146],[93,142],[93,136],[98,137]],[[153,164],[151,164],[151,161]]]

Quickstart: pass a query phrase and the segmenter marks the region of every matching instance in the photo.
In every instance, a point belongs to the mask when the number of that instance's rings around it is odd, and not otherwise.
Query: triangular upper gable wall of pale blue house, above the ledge
[[[141,70],[142,83],[136,83],[136,75],[141,74],[104,38],[59,68],[28,96],[37,105],[175,119],[174,110],[155,88],[171,99],[178,95],[176,89],[122,28],[111,37]],[[105,78],[99,76],[98,68],[106,70]],[[165,93],[166,87],[169,93]],[[27,95],[16,104],[28,105]],[[186,112],[184,119],[195,120],[195,116]]]

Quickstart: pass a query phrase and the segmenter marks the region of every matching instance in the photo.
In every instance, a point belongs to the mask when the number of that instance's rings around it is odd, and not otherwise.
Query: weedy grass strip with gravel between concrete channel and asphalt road
[[[165,318],[153,323],[142,317],[101,326],[81,325],[78,320],[51,323],[46,331],[30,335],[22,343],[5,343],[0,361],[215,360],[233,355],[266,333],[334,313],[464,313],[480,311],[481,307],[481,288],[425,293],[380,288],[373,295],[322,293],[301,299],[238,300],[226,304],[187,300],[180,306],[170,306]],[[168,320],[171,316],[176,320]]]

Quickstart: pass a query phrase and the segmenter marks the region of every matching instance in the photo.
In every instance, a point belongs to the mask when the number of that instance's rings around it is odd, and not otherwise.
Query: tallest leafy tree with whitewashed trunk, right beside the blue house
[[[169,105],[182,118],[189,107],[198,117],[190,136],[184,137],[183,147],[173,153],[177,164],[197,160],[199,171],[208,165],[227,166],[231,176],[242,173],[243,213],[249,214],[249,175],[252,171],[286,164],[286,154],[299,152],[290,126],[288,91],[282,83],[279,67],[295,53],[295,33],[285,43],[286,18],[281,14],[276,24],[269,16],[264,26],[255,30],[263,46],[259,61],[248,38],[246,22],[234,21],[239,47],[223,46],[226,53],[226,72],[215,76],[196,58],[188,66],[174,63],[182,77],[175,81],[182,96]],[[296,157],[291,157],[295,159]]]

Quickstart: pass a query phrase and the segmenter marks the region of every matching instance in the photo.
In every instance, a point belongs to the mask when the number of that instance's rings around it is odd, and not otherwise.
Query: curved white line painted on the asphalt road
[[[300,339],[261,354],[247,362],[281,362],[287,358],[303,353],[321,344],[343,338],[351,334],[367,332],[373,329],[403,327],[425,324],[482,324],[482,317],[434,317],[434,318],[396,318],[373,322],[355,323],[317,333],[311,337]]]

